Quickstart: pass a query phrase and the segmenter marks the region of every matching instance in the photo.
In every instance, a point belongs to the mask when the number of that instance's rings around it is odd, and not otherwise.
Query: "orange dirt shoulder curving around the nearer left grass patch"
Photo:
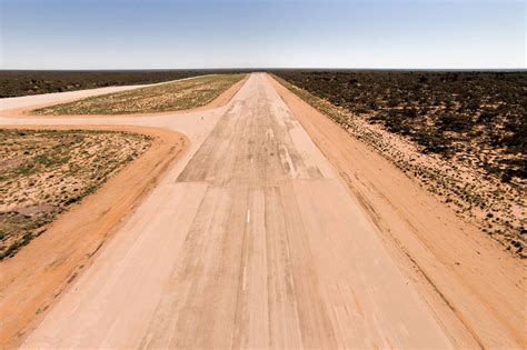
[[[11,127],[10,127],[11,128]],[[17,256],[0,262],[0,344],[14,347],[43,317],[69,283],[92,261],[122,219],[152,189],[189,146],[178,132],[127,126],[17,126],[13,129],[84,129],[142,133],[150,148],[110,178],[97,192],[74,204]]]

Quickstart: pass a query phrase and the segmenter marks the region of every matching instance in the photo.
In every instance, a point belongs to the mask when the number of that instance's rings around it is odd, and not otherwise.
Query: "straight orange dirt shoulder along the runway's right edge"
[[[526,266],[270,78],[459,347],[525,348]]]

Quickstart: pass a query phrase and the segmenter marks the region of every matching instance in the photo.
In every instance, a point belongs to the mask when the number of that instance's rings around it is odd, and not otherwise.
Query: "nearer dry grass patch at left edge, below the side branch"
[[[0,129],[0,260],[150,144],[125,132]]]

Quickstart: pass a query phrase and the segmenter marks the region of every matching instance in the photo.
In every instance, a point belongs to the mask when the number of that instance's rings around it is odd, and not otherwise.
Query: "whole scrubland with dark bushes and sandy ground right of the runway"
[[[291,91],[526,258],[525,73],[279,72]],[[345,91],[345,92],[342,92]]]

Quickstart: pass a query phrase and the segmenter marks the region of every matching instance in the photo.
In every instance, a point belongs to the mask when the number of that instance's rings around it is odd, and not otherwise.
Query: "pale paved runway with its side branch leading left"
[[[426,283],[410,278],[360,197],[264,74],[210,111],[0,122],[151,126],[191,141],[24,347],[451,348],[481,341],[440,301],[430,304]],[[525,341],[501,337],[506,346]]]

